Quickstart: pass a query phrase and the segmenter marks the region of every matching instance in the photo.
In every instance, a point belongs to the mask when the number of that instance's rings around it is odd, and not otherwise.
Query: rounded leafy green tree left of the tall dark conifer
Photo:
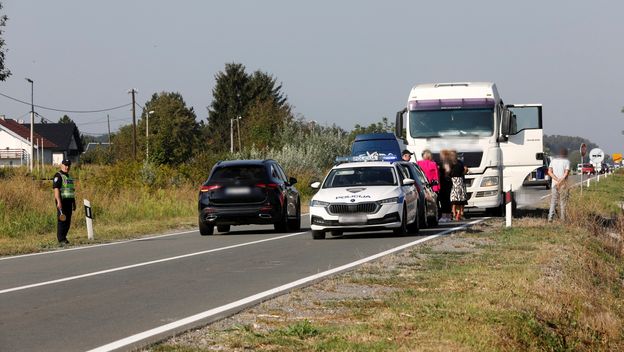
[[[139,130],[146,131],[149,115],[149,159],[158,164],[186,162],[197,149],[200,126],[193,108],[186,106],[180,93],[162,92],[152,95],[145,104]],[[141,140],[146,145],[145,134]]]

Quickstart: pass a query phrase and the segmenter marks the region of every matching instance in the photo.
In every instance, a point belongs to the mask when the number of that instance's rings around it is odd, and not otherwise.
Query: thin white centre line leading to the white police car
[[[33,287],[40,287],[40,286],[58,284],[58,283],[61,283],[61,282],[67,282],[67,281],[72,281],[72,280],[84,279],[86,277],[92,277],[92,276],[97,276],[97,275],[102,275],[102,274],[114,273],[114,272],[117,272],[117,271],[134,269],[134,268],[139,268],[139,267],[142,267],[142,266],[158,264],[158,263],[164,263],[164,262],[169,262],[169,261],[172,261],[172,260],[189,258],[189,257],[194,257],[194,256],[202,255],[202,254],[214,253],[214,252],[224,251],[224,250],[237,248],[237,247],[249,246],[249,245],[252,245],[252,244],[258,244],[258,243],[263,243],[263,242],[268,242],[268,241],[281,240],[283,238],[299,236],[299,235],[302,235],[304,233],[306,233],[306,232],[291,233],[291,234],[288,234],[288,235],[271,237],[271,238],[266,238],[266,239],[263,239],[263,240],[252,241],[252,242],[245,242],[245,243],[235,244],[235,245],[226,246],[226,247],[214,248],[214,249],[209,249],[209,250],[205,250],[205,251],[201,251],[201,252],[183,254],[183,255],[178,255],[178,256],[175,256],[175,257],[169,257],[169,258],[163,258],[163,259],[158,259],[158,260],[152,260],[152,261],[149,261],[149,262],[143,262],[143,263],[137,263],[137,264],[132,264],[132,265],[126,265],[126,266],[121,266],[121,267],[118,267],[118,268],[112,268],[112,269],[107,269],[107,270],[95,271],[95,272],[92,272],[92,273],[76,275],[76,276],[70,276],[70,277],[65,277],[65,278],[57,279],[57,280],[50,280],[50,281],[45,281],[45,282],[39,282],[39,283],[36,283],[36,284],[30,284],[30,285],[24,285],[24,286],[19,286],[19,287],[7,288],[7,289],[4,289],[4,290],[0,290],[0,294],[9,293],[9,292],[15,292],[15,291],[22,291],[22,290],[26,290],[26,289],[33,288]]]

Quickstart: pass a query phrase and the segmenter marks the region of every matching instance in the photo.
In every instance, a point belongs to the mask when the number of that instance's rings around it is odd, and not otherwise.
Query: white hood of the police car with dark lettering
[[[400,197],[401,190],[397,186],[361,186],[323,188],[314,196],[315,200],[329,203],[362,203]]]

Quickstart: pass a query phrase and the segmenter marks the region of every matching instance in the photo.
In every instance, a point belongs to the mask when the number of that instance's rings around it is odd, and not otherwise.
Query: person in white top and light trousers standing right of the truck
[[[548,221],[552,221],[555,216],[557,202],[559,202],[559,218],[565,220],[565,206],[568,200],[568,175],[570,174],[570,160],[568,160],[568,150],[561,148],[559,156],[554,158],[548,166],[548,176],[552,180],[550,187],[550,210],[548,211]]]

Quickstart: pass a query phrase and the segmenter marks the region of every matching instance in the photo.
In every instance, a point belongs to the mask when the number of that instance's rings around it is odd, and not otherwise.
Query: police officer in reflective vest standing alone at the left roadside
[[[76,210],[76,195],[74,179],[69,176],[71,160],[65,159],[61,163],[61,170],[54,174],[52,188],[56,201],[56,238],[59,244],[69,244],[67,232],[71,225],[71,215]]]

